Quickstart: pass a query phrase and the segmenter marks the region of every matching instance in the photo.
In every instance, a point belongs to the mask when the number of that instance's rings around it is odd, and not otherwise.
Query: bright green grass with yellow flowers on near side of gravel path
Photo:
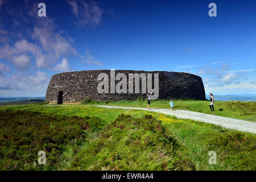
[[[45,105],[0,106],[0,110],[6,109],[38,111],[44,114],[68,115],[69,117],[93,116],[100,118],[105,123],[104,126],[111,125],[119,114],[129,114],[133,118],[142,118],[146,114],[150,114],[156,120],[162,122],[161,125],[165,127],[166,131],[175,136],[177,143],[180,144],[180,148],[176,151],[176,154],[182,156],[182,159],[191,161],[195,165],[196,170],[255,170],[256,136],[251,133],[242,133],[208,123],[192,121],[191,119],[177,119],[170,115],[143,110],[106,109],[79,105],[75,107]],[[101,134],[93,135],[88,141],[93,143],[93,140],[95,140],[97,143],[95,136],[101,136]],[[88,144],[82,143],[81,151],[86,148],[88,149],[88,146],[91,146],[93,151],[93,144]],[[107,143],[102,146],[108,148]],[[119,147],[119,144],[117,147]],[[208,152],[212,150],[217,152],[216,165],[210,165],[208,163]],[[96,152],[94,154],[100,153]],[[74,162],[76,155],[79,154],[80,152],[74,152],[73,144],[68,144],[61,155],[65,160],[61,162],[61,165],[57,169],[75,169],[77,167],[75,164],[80,164],[79,161]],[[98,159],[92,160],[98,161]],[[97,168],[98,166],[92,167]],[[114,168],[114,166],[112,167]],[[86,167],[84,166],[83,168]]]

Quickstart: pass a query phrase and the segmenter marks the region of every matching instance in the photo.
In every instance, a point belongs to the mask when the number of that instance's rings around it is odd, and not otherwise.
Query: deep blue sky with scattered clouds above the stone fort
[[[38,4],[46,4],[46,17]],[[217,17],[208,5],[217,5]],[[0,0],[0,96],[45,96],[88,69],[188,72],[208,94],[256,94],[255,1]]]

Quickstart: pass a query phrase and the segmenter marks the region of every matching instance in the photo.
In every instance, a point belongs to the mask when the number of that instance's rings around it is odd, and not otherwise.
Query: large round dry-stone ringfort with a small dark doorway
[[[110,70],[89,70],[77,72],[65,72],[53,75],[49,82],[46,101],[62,104],[63,102],[80,102],[84,98],[97,101],[119,101],[137,100],[138,97],[146,98],[142,93],[142,79],[139,81],[139,93],[111,93],[109,82],[109,93],[98,93],[97,87],[101,80],[98,80],[100,73],[106,73],[110,78]],[[129,88],[129,74],[151,75],[152,88],[154,88],[154,75],[158,73],[159,90],[158,99],[195,99],[205,100],[205,90],[202,78],[190,73],[166,72],[166,71],[131,71],[115,70],[115,73],[124,73],[127,77],[127,89]],[[151,74],[150,74],[151,73]],[[104,79],[103,79],[104,80]],[[122,80],[122,79],[121,79]],[[115,79],[115,85],[120,80]],[[146,81],[146,84],[148,82]],[[135,89],[135,86],[133,86]]]

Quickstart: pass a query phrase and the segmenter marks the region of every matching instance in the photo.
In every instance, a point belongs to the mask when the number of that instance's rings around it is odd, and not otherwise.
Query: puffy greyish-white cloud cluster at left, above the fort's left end
[[[60,32],[55,33],[55,26],[51,19],[45,19],[34,27],[31,37],[35,43],[21,39],[15,42],[13,47],[9,44],[0,46],[0,57],[11,60],[18,68],[26,68],[30,59],[34,59],[38,68],[52,69],[61,56],[76,55],[76,49],[71,46],[73,41],[67,36],[64,38]]]

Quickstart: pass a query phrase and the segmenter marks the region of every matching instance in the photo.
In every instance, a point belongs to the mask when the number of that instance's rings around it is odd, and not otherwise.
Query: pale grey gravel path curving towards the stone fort
[[[51,105],[48,105],[51,106]],[[53,105],[57,106],[57,105]],[[72,106],[72,105],[59,105],[59,106]],[[212,123],[214,125],[219,125],[225,127],[227,129],[235,129],[239,131],[246,131],[250,133],[256,134],[256,122],[250,121],[243,121],[240,119],[233,119],[233,118],[226,118],[212,114],[204,114],[204,113],[197,113],[193,111],[187,110],[171,110],[171,109],[151,109],[148,110],[142,107],[121,107],[121,106],[104,106],[98,105],[97,107],[105,107],[105,108],[115,108],[115,109],[137,109],[137,110],[146,110],[152,111],[156,113],[163,113],[168,115],[175,115],[177,118],[182,119],[193,119],[195,121],[201,121],[205,123]]]

